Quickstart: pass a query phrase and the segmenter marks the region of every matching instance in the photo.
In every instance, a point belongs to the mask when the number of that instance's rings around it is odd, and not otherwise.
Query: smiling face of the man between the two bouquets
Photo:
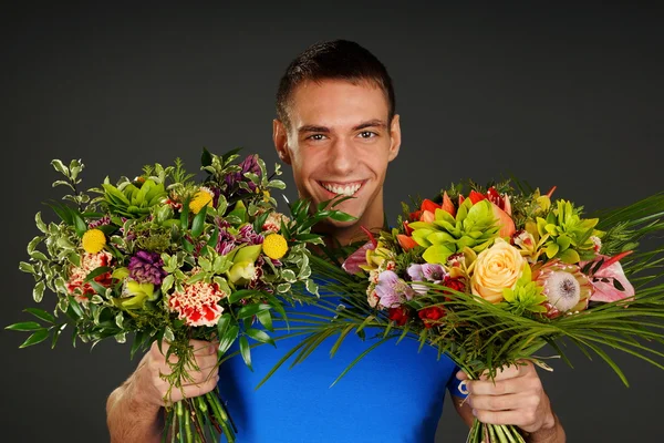
[[[288,132],[274,121],[274,144],[293,168],[300,197],[318,204],[352,196],[338,209],[359,219],[330,223],[381,227],[385,173],[401,144],[398,115],[387,121],[383,91],[369,82],[305,82],[293,92],[289,116]]]

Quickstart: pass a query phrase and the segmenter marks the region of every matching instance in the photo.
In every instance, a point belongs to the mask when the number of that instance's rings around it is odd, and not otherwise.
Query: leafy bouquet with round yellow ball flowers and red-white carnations
[[[251,368],[250,341],[274,344],[274,316],[286,317],[284,303],[311,302],[318,287],[310,278],[309,244],[320,244],[311,227],[320,219],[349,219],[334,202],[310,212],[298,202],[291,217],[277,210],[270,189],[283,189],[268,175],[264,162],[239,150],[222,156],[204,150],[203,181],[195,181],[181,161],[163,167],[145,166],[134,179],[108,178],[100,187],[80,190],[84,165],[54,159],[53,167],[71,194],[50,206],[59,216],[28,245],[22,271],[34,276],[33,298],[46,288],[56,295],[52,312],[27,309],[38,321],[7,329],[30,331],[21,347],[73,328],[73,340],[92,344],[106,338],[125,342],[133,337],[132,356],[157,341],[169,343],[163,374],[170,390],[164,399],[164,439],[205,442],[222,433],[235,441],[236,430],[218,390],[198,398],[169,402],[181,389],[188,370],[196,370],[190,339],[218,341],[219,360],[239,341]],[[41,249],[40,249],[41,247]],[[291,286],[303,289],[298,292]],[[305,290],[304,290],[305,288]],[[162,348],[160,348],[162,349]],[[177,359],[170,359],[175,356]]]

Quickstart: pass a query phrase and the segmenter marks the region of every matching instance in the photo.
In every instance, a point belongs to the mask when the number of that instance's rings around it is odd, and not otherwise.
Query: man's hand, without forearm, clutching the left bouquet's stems
[[[170,401],[173,403],[184,398],[199,396],[210,392],[219,381],[217,371],[217,346],[209,341],[189,340],[194,347],[195,367],[187,367],[186,371],[191,380],[183,380],[183,389],[173,388],[170,390]],[[154,342],[149,351],[136,368],[133,380],[133,393],[137,400],[164,406],[168,393],[168,382],[160,375],[170,373],[170,365],[166,361],[165,354],[168,350],[168,343],[162,343],[162,351],[157,342]],[[177,362],[175,356],[170,357],[170,363]],[[197,369],[195,369],[197,368]]]

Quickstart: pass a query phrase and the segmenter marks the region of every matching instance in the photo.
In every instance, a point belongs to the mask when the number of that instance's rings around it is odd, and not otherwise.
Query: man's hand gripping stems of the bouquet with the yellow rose
[[[495,381],[486,374],[479,380],[468,380],[463,371],[457,378],[466,381],[469,391],[466,404],[480,422],[519,426],[531,434],[529,441],[564,442],[564,432],[530,361],[499,370]],[[538,434],[551,437],[540,439]]]

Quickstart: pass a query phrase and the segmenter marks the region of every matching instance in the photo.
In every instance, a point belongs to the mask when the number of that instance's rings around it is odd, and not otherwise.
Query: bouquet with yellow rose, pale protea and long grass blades
[[[314,258],[314,274],[341,303],[320,301],[330,319],[310,321],[297,361],[319,337],[339,333],[334,354],[349,333],[377,330],[340,378],[374,347],[405,338],[437,348],[470,379],[492,380],[522,360],[550,369],[535,356],[546,344],[569,363],[562,339],[596,353],[625,384],[604,348],[664,369],[664,353],[644,343],[664,342],[664,247],[636,250],[664,229],[664,194],[584,218],[582,207],[553,200],[553,189],[511,183],[453,185],[416,210],[404,204],[396,227],[367,233],[371,241],[341,267],[334,251]],[[467,441],[525,440],[516,426],[476,419]]]

